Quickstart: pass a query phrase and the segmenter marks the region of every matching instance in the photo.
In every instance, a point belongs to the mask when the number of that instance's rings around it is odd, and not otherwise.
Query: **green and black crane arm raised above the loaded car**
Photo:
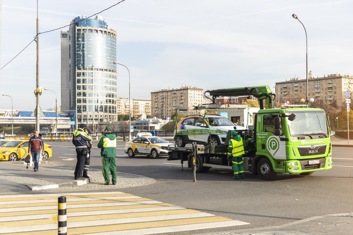
[[[212,96],[213,104],[216,104],[216,98],[220,96],[241,96],[241,95],[252,95],[253,97],[259,100],[260,109],[271,109],[275,107],[275,97],[276,95],[271,92],[269,86],[257,86],[257,87],[235,87],[235,88],[226,88],[226,89],[216,89],[216,90],[207,90],[205,93],[209,92]],[[208,98],[208,97],[206,97]],[[265,100],[265,105],[263,103]]]

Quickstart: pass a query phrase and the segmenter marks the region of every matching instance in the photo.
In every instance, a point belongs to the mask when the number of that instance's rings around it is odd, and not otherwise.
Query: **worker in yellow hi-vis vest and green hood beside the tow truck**
[[[229,140],[227,159],[229,160],[229,156],[232,156],[234,179],[238,180],[239,176],[240,179],[244,179],[242,157],[244,154],[243,139],[236,131],[231,131],[231,134],[232,138]]]

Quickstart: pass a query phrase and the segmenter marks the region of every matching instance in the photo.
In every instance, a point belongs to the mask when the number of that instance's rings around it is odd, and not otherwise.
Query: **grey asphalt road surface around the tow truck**
[[[173,142],[171,138],[167,140]],[[49,144],[53,149],[50,162],[76,165],[71,142]],[[97,141],[93,144],[90,168],[102,169]],[[233,180],[232,171],[211,168],[207,173],[196,174],[197,182],[193,182],[191,168],[184,165],[181,171],[179,161],[167,161],[167,157],[130,158],[124,153],[124,145],[125,142],[118,141],[117,171],[151,177],[156,183],[120,191],[250,223],[195,230],[193,234],[276,226],[317,215],[353,212],[352,148],[333,148],[334,167],[306,177],[277,174],[275,180],[266,181],[245,172],[244,180]]]

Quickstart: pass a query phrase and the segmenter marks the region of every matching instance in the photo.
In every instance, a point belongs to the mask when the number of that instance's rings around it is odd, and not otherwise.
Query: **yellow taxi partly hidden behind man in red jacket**
[[[9,140],[0,147],[0,161],[17,161],[28,153],[29,140]],[[52,147],[44,143],[43,160],[52,156]]]

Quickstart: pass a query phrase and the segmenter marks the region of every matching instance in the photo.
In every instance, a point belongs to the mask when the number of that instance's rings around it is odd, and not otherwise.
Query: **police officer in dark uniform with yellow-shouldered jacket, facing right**
[[[86,124],[81,124],[80,128],[73,132],[72,143],[76,147],[76,168],[74,172],[75,179],[85,180],[82,178],[83,167],[88,154],[88,141],[92,141],[92,137],[88,135],[88,130]]]

